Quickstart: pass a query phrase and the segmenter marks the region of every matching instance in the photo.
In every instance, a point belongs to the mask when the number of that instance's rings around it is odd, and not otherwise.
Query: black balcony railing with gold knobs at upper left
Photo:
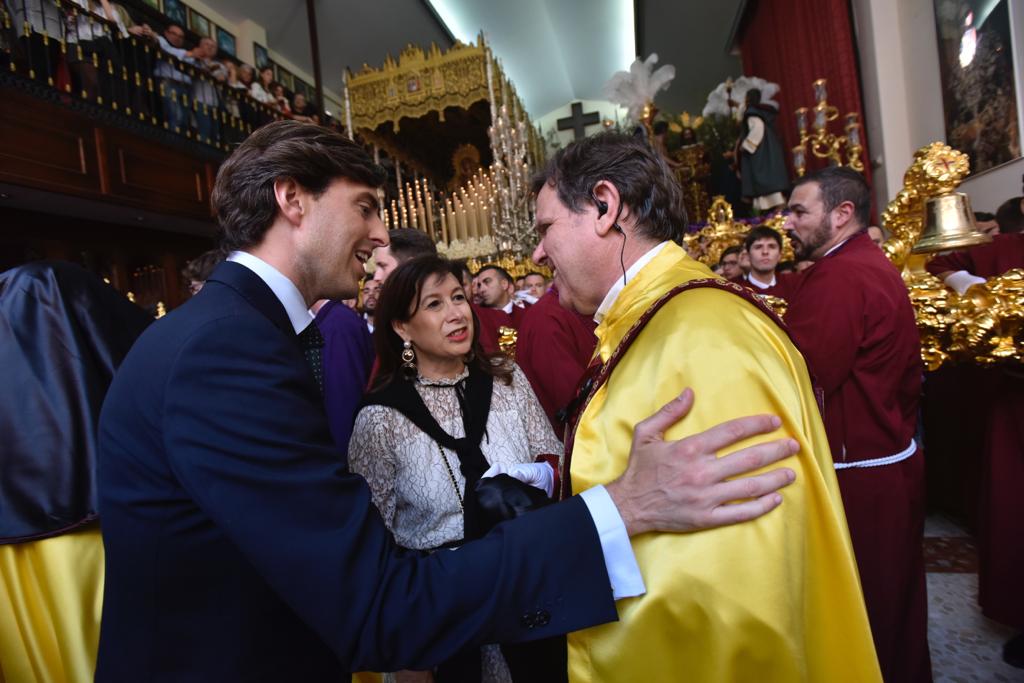
[[[103,11],[90,0],[0,2],[4,80],[220,152],[287,118],[246,84],[229,82],[223,62],[184,53],[179,59],[166,39],[131,26],[113,2],[114,20],[85,5]]]

